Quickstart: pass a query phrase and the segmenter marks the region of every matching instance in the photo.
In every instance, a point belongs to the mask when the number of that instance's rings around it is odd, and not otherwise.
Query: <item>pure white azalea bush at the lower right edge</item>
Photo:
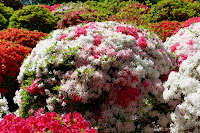
[[[198,42],[196,42],[196,45],[194,43],[194,46],[197,46],[197,44],[199,45]],[[174,106],[175,111],[171,113],[171,119],[173,121],[171,125],[172,132],[184,132],[185,130],[191,130],[194,133],[199,132],[199,79],[200,52],[198,50],[193,56],[188,56],[183,61],[178,72],[171,72],[168,80],[164,84],[165,91],[163,97],[166,102],[172,104],[174,103],[173,101],[180,102],[177,106]]]

